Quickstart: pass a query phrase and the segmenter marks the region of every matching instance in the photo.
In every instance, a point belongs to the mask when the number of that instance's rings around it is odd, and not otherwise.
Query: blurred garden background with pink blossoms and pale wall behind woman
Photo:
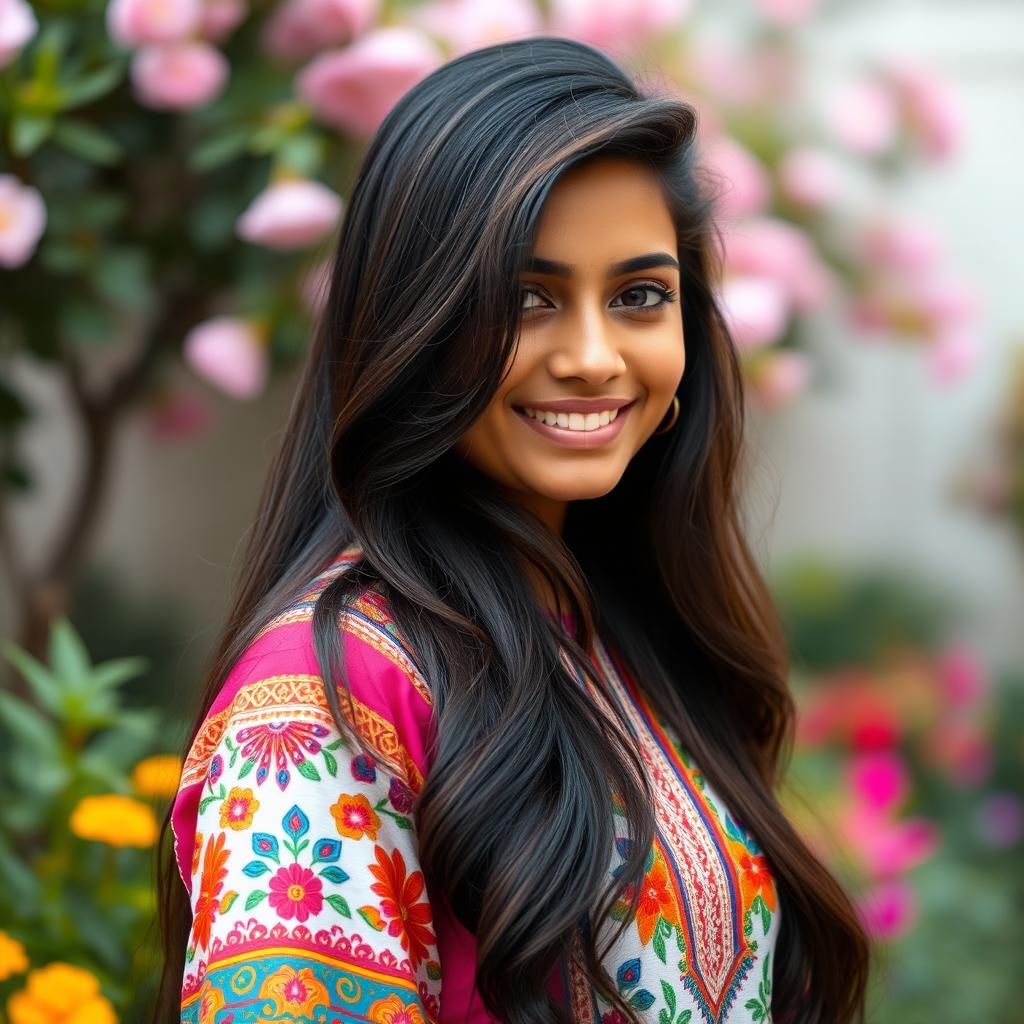
[[[785,800],[877,939],[868,1020],[1024,1021],[997,0],[0,0],[0,1020],[144,1019],[157,824],[361,148],[443,60],[551,33],[699,111]]]

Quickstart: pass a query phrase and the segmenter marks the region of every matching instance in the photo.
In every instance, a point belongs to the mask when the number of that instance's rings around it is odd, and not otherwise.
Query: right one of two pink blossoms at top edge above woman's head
[[[683,22],[690,0],[552,0],[551,30],[609,51],[628,50]]]

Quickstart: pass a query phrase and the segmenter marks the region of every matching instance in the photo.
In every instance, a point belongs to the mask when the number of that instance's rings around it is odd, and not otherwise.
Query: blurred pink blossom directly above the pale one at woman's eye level
[[[835,295],[835,274],[796,225],[776,217],[754,217],[727,228],[725,259],[730,272],[776,282],[787,302],[801,311],[816,309]]]

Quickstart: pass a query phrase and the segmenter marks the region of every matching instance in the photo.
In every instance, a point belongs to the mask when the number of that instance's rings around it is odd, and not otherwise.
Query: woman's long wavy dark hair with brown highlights
[[[511,1024],[568,1019],[548,994],[552,965],[581,919],[605,920],[631,884],[635,909],[652,842],[626,726],[596,712],[559,658],[561,642],[592,672],[595,630],[769,859],[783,905],[776,1024],[863,1020],[864,933],[775,797],[794,709],[781,630],[740,524],[742,384],[713,292],[720,246],[695,128],[687,103],[646,94],[598,50],[554,37],[466,53],[394,106],[350,191],[326,309],[197,710],[194,736],[261,627],[358,545],[362,558],[313,614],[323,678],[347,687],[338,615],[380,590],[433,693],[437,743],[415,810],[422,866],[475,933],[481,994]],[[644,444],[609,494],[571,504],[559,538],[455,444],[514,351],[512,283],[545,199],[597,155],[659,177],[677,227],[686,372],[675,428]],[[573,637],[540,608],[528,566],[566,596]],[[327,697],[352,736],[338,689]],[[612,793],[634,842],[609,882]],[[189,912],[169,863],[160,887],[158,1019],[171,1020]],[[635,1019],[600,964],[614,937],[598,950],[588,929],[582,966]]]

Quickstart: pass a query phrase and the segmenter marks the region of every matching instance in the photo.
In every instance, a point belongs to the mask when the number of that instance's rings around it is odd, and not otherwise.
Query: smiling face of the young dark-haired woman
[[[607,494],[672,406],[685,362],[676,231],[657,178],[624,158],[549,194],[511,370],[460,454],[561,531]]]

